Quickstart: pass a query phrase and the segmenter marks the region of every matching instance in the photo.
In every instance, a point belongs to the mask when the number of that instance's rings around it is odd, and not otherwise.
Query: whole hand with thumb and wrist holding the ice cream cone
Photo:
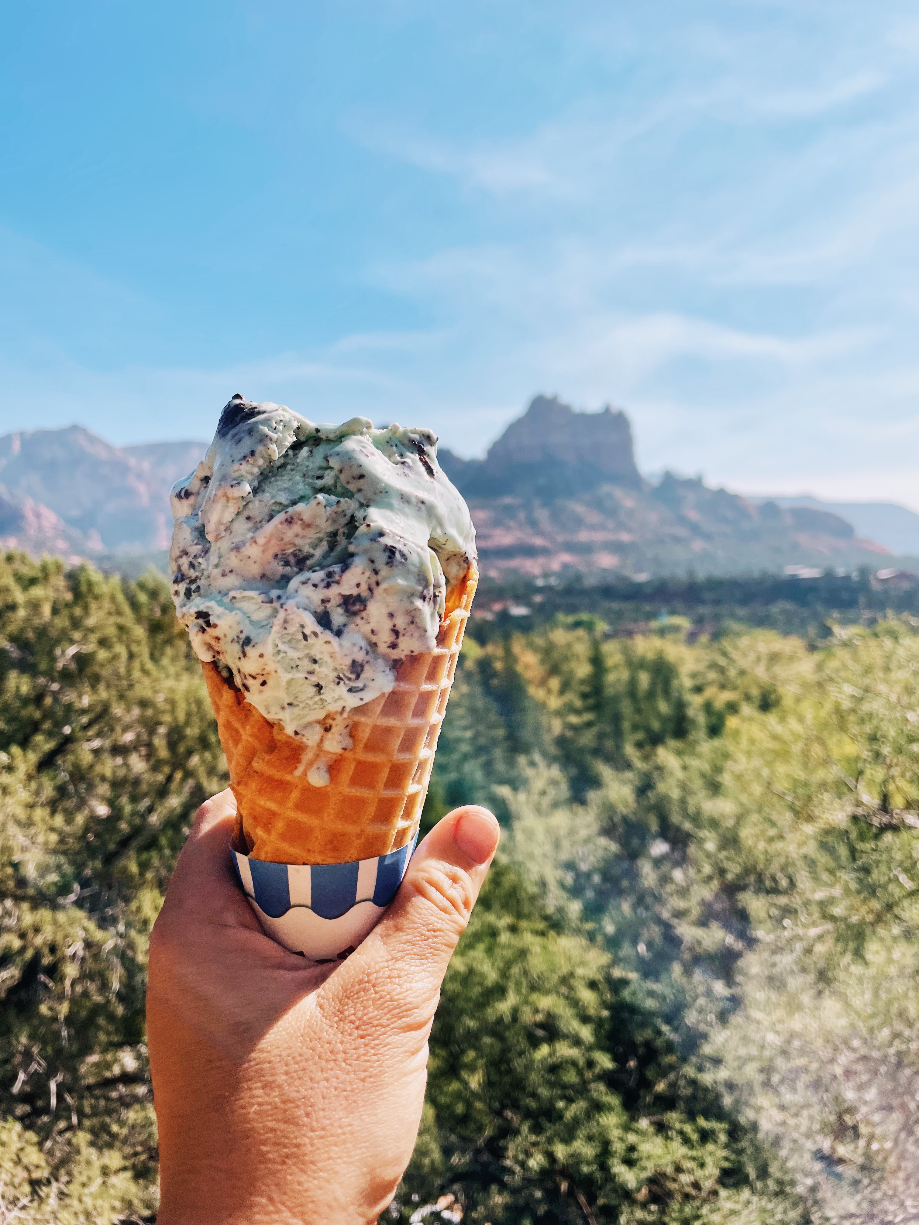
[[[234,815],[230,791],[201,807],[151,937],[158,1225],[375,1221],[412,1155],[440,985],[497,822],[444,817],[364,943],[310,968],[232,875]]]

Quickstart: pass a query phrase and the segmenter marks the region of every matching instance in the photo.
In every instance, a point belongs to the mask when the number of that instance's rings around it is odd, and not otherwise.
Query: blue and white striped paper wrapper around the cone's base
[[[267,864],[232,850],[265,931],[311,962],[343,960],[376,926],[406,875],[418,834],[387,855],[350,864]]]

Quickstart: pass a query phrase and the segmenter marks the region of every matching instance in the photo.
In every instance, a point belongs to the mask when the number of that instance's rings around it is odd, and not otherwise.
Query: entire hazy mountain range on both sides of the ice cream
[[[69,559],[141,559],[168,549],[168,494],[201,441],[114,447],[83,426],[0,437],[0,541]],[[876,565],[887,550],[830,510],[757,501],[635,463],[621,409],[576,412],[535,396],[484,459],[439,450],[469,503],[491,578],[565,571],[626,576],[749,573],[794,565]]]

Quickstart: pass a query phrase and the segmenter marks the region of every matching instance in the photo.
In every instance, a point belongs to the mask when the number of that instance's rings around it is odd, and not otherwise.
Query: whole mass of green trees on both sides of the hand
[[[917,628],[687,646],[588,614],[471,639],[425,820],[490,804],[507,861],[392,1215],[909,1209]],[[161,579],[0,560],[0,1219],[153,1219],[147,936],[223,782]]]

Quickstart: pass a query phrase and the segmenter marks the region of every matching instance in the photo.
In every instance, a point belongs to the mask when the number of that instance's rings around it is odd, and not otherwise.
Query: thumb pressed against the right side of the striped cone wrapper
[[[358,992],[370,992],[382,1017],[406,1007],[433,1014],[500,833],[488,809],[457,809],[444,817],[414,853],[387,914],[330,986],[350,993],[353,1002]]]

